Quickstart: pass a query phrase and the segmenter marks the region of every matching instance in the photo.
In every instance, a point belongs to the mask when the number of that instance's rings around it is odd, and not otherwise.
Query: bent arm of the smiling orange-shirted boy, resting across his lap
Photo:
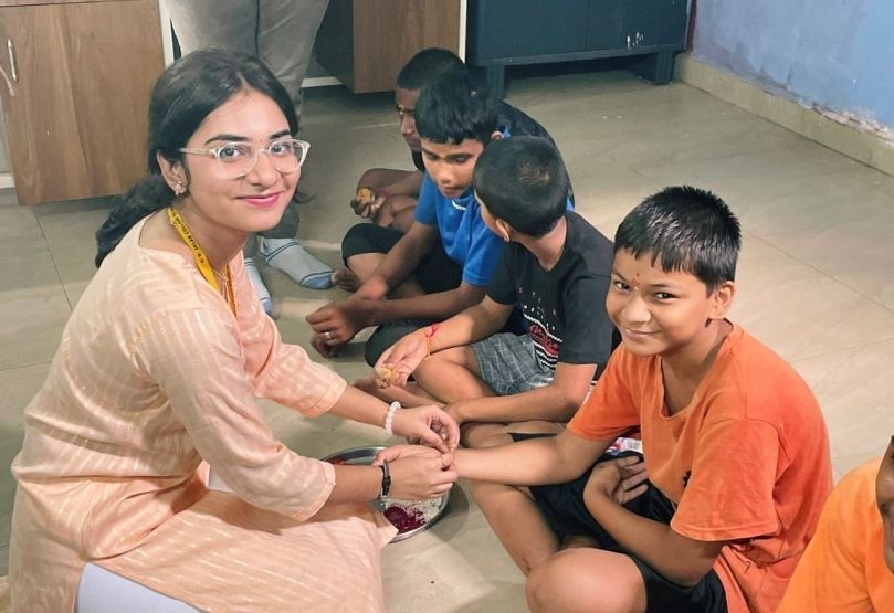
[[[712,569],[723,541],[684,537],[665,524],[627,510],[623,505],[645,492],[645,464],[624,457],[598,464],[583,501],[600,526],[622,547],[679,585],[695,585]]]

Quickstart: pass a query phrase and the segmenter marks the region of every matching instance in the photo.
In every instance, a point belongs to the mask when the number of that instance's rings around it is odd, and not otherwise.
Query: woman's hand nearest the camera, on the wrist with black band
[[[389,498],[438,498],[443,496],[459,475],[453,454],[442,454],[420,445],[397,445],[379,452],[374,464],[388,461],[391,473]]]

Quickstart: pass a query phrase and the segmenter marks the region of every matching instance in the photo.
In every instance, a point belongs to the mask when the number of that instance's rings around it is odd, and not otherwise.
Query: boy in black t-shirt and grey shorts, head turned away
[[[474,187],[482,219],[509,243],[487,296],[406,336],[376,368],[380,384],[397,383],[380,395],[444,403],[465,424],[463,443],[485,446],[508,432],[560,430],[583,402],[612,349],[604,306],[612,243],[566,210],[565,166],[543,138],[492,142]],[[514,308],[528,334],[495,334]],[[402,389],[411,374],[416,383]]]

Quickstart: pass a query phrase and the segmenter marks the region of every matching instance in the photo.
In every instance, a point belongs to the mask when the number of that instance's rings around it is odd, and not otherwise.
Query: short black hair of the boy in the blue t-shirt
[[[416,103],[416,129],[432,142],[459,145],[474,138],[487,145],[498,121],[496,101],[475,87],[465,71],[439,75]]]

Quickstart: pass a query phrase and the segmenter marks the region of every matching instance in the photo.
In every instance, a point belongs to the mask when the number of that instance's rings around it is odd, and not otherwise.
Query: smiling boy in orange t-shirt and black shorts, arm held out
[[[648,198],[614,237],[623,344],[567,430],[456,452],[461,476],[536,486],[488,517],[535,613],[776,610],[832,487],[829,442],[803,380],[725,318],[739,244],[714,194]],[[603,456],[637,429],[645,462]]]

